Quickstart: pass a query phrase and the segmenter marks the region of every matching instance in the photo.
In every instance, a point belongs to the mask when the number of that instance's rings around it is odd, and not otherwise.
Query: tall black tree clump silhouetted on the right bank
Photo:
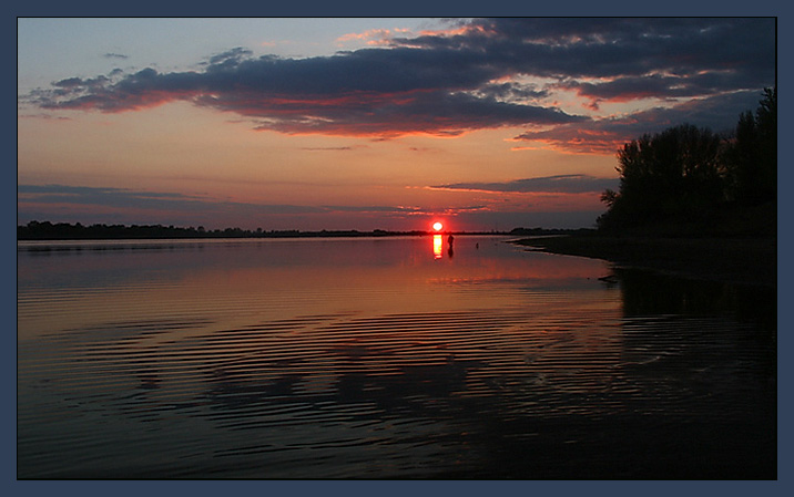
[[[777,87],[719,135],[682,124],[627,143],[619,191],[607,190],[601,231],[776,235]]]

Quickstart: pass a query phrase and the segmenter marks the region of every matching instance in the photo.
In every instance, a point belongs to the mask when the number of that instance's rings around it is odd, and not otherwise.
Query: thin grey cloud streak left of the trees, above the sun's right
[[[449,185],[436,185],[430,188],[492,193],[584,194],[601,193],[607,188],[615,188],[617,183],[617,179],[596,178],[586,175],[560,175],[516,179],[505,183],[454,183]]]

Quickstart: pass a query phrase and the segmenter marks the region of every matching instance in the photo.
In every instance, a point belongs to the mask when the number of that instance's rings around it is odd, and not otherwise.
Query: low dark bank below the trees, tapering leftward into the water
[[[516,240],[516,244],[551,253],[603,259],[622,267],[690,278],[777,284],[775,237],[612,237],[592,232],[526,238]]]

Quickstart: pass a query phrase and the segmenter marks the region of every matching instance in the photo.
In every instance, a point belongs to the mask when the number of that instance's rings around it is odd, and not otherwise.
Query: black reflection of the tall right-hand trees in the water
[[[644,460],[644,474],[774,478],[775,289],[617,275],[625,317],[620,376],[638,392],[622,401],[643,413],[629,416],[622,432],[638,448],[651,442],[644,449],[658,459]]]

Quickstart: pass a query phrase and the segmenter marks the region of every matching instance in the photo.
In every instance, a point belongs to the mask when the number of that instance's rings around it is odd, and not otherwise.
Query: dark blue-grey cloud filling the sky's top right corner
[[[397,45],[481,54],[496,66],[551,77],[614,77],[736,71],[772,84],[773,18],[500,18],[474,20],[454,37]]]

